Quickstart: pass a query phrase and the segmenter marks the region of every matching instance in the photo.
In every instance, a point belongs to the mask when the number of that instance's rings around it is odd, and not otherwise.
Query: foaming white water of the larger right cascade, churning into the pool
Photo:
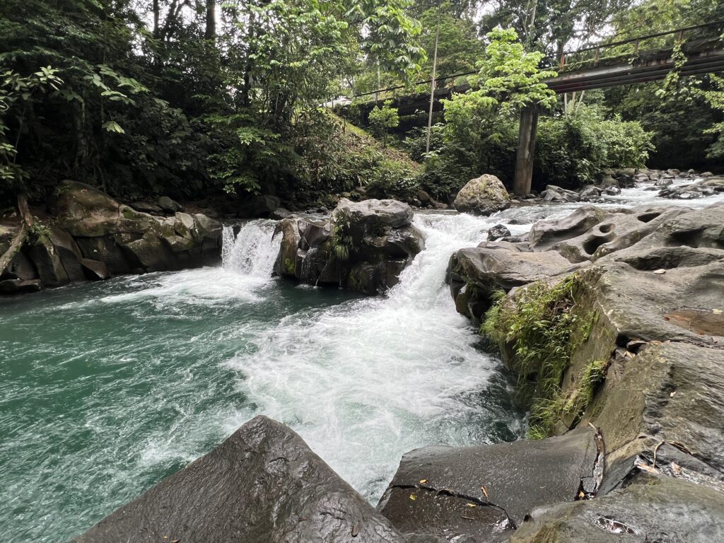
[[[356,298],[284,316],[258,330],[255,348],[227,362],[259,413],[290,424],[371,499],[379,497],[403,452],[487,442],[495,439],[489,435],[494,422],[508,426],[511,437],[520,429],[512,414],[495,421],[500,413],[481,405],[479,396],[498,362],[476,349],[479,338],[455,312],[443,284],[450,253],[479,243],[494,219],[418,214],[415,224],[426,236],[426,249],[386,298]],[[243,252],[241,246],[268,247],[267,232],[261,224],[245,227],[224,251],[230,255],[224,266],[240,261],[242,274],[257,269],[249,261],[266,261],[265,250],[240,259],[231,255]],[[478,424],[481,418],[487,424]]]

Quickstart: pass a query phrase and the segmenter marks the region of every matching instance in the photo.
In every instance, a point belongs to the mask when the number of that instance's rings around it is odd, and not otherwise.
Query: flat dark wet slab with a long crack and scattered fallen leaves
[[[581,429],[542,441],[424,447],[403,455],[378,505],[405,534],[502,541],[533,508],[594,492],[599,449]]]

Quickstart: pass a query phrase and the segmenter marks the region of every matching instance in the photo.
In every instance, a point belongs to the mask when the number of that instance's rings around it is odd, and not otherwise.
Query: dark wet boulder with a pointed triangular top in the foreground
[[[403,543],[292,430],[258,416],[75,543]]]

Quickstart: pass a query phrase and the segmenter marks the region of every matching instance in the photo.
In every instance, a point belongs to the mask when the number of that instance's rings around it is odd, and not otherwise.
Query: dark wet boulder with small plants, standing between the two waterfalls
[[[424,235],[412,219],[407,203],[346,198],[329,218],[289,216],[274,232],[282,237],[274,273],[308,285],[382,294],[424,249]]]

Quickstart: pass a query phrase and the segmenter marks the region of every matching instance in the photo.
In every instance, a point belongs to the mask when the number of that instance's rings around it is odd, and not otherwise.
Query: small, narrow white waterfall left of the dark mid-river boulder
[[[271,277],[279,254],[279,237],[274,235],[274,221],[256,220],[243,225],[234,236],[234,228],[225,226],[222,233],[222,267],[227,271],[254,277]]]

